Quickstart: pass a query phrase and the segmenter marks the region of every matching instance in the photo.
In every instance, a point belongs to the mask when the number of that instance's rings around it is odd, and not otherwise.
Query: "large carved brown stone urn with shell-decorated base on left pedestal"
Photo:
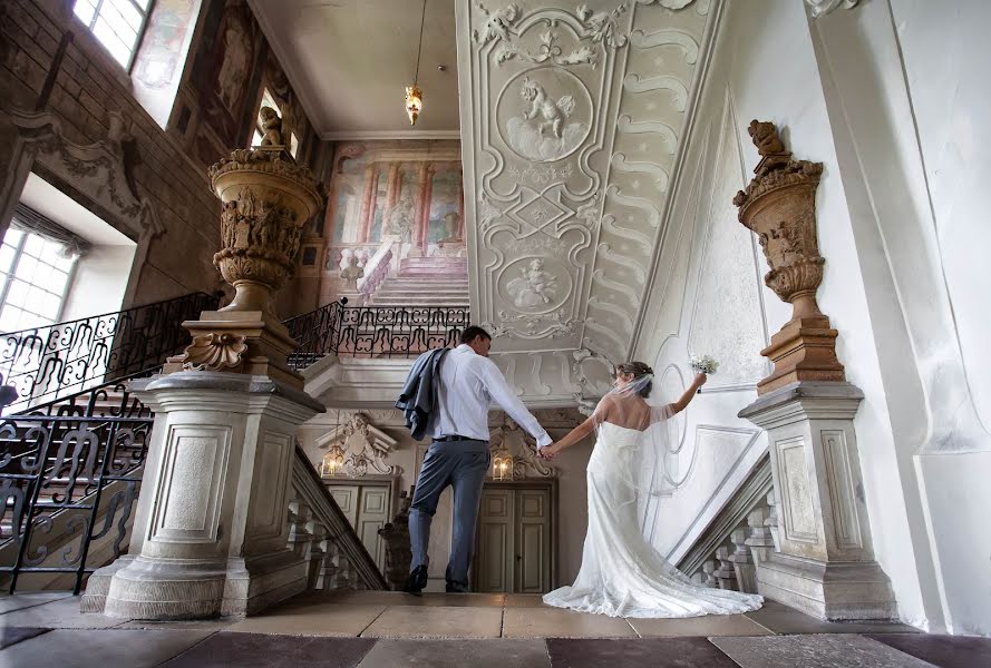
[[[322,204],[317,183],[285,147],[273,145],[235,150],[207,174],[223,204],[213,262],[234,286],[234,299],[183,324],[193,343],[165,372],[233,371],[302,389],[285,363],[297,342],[273,313],[272,295],[292,277],[303,226]]]

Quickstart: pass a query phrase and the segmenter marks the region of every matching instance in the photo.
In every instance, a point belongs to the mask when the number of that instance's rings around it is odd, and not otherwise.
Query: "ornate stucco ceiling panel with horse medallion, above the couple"
[[[457,4],[472,308],[525,395],[597,392],[584,358],[630,354],[709,8]]]

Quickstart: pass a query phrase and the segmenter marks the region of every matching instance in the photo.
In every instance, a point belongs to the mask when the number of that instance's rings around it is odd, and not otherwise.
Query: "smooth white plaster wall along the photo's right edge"
[[[987,137],[979,63],[989,46],[979,24],[988,18],[975,1],[871,2],[810,31],[894,441],[893,458],[874,459],[862,445],[862,460],[877,466],[865,473],[901,487],[904,554],[919,582],[909,619],[984,635],[991,541],[974,528],[987,524],[979,481],[991,477],[991,439],[982,415],[988,357],[975,342],[988,277],[973,263],[989,234],[977,199],[988,159],[974,150]],[[906,615],[901,596],[900,603]]]

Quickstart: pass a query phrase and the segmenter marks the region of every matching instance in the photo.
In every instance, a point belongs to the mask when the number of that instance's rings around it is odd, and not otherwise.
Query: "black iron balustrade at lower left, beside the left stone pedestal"
[[[94,541],[123,552],[140,487],[150,411],[124,380],[0,421],[0,573],[72,573],[79,593]],[[113,533],[111,533],[113,532]]]

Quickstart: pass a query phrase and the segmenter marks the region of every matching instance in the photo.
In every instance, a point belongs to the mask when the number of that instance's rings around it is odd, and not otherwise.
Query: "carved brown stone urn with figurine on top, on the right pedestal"
[[[761,159],[733,204],[740,223],[757,233],[770,266],[764,282],[793,306],[791,320],[760,351],[775,367],[757,384],[757,392],[796,381],[844,381],[836,358],[837,332],[816,303],[826,263],[816,239],[816,188],[823,165],[794,160],[774,124],[754,120],[749,134]]]

